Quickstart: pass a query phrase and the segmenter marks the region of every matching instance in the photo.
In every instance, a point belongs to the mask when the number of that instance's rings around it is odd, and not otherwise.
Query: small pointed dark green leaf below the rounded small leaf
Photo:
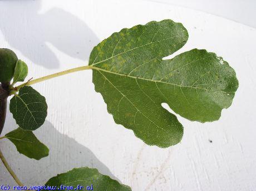
[[[17,128],[12,132],[7,133],[4,137],[11,140],[18,152],[24,154],[28,158],[40,160],[43,157],[47,157],[49,154],[49,149],[46,145],[41,143],[30,130]]]

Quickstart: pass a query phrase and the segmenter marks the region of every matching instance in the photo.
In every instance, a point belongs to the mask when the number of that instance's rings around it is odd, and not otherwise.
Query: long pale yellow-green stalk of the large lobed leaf
[[[21,89],[24,86],[31,86],[32,84],[43,82],[43,81],[46,81],[47,79],[56,78],[58,76],[62,76],[62,75],[73,73],[73,72],[85,71],[86,69],[92,69],[92,67],[91,66],[82,66],[82,67],[72,68],[72,69],[68,69],[67,71],[57,72],[57,73],[51,74],[49,76],[33,79],[32,81],[29,81],[29,82],[26,82],[26,83],[23,83],[23,84],[17,86],[15,88],[15,90],[18,91],[19,89]]]

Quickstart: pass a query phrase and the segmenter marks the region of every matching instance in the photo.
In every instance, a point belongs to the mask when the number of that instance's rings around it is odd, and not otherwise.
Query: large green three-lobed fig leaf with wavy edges
[[[181,23],[153,21],[112,34],[90,55],[95,90],[109,113],[149,145],[169,147],[183,137],[183,126],[161,103],[187,119],[211,122],[238,88],[234,70],[214,53],[193,49],[163,60],[187,39]]]

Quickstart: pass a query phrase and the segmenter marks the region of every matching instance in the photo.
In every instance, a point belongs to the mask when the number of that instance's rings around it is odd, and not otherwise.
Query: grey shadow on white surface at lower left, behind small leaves
[[[2,135],[16,127],[17,124],[12,118],[12,114],[7,112]],[[19,154],[16,147],[9,140],[0,141],[6,159],[25,185],[42,185],[57,174],[80,167],[97,168],[101,174],[109,175],[112,179],[120,182],[89,148],[58,132],[52,123],[46,121],[42,127],[33,133],[50,149],[48,157],[41,160],[29,159]],[[8,183],[10,186],[15,185],[11,175],[2,164],[0,165],[0,174],[5,174],[1,175],[0,182]]]

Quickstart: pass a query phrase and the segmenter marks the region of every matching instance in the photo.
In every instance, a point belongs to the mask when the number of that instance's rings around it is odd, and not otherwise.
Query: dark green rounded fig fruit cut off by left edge
[[[14,69],[18,58],[7,48],[0,48],[0,82],[7,83],[13,78]]]

